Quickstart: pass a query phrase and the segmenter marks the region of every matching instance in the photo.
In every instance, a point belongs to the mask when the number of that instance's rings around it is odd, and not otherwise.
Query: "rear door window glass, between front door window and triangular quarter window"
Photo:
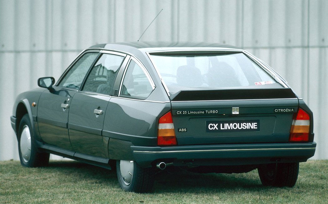
[[[122,56],[103,54],[92,68],[83,91],[110,94],[123,59]]]

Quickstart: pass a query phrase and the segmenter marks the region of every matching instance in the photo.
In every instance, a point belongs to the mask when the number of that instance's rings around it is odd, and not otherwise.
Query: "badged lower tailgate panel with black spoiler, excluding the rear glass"
[[[178,145],[288,142],[298,99],[290,88],[171,95]]]

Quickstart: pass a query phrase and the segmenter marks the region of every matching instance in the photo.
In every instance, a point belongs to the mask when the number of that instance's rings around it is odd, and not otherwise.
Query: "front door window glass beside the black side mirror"
[[[88,70],[90,69],[93,61],[97,56],[98,53],[84,54],[68,71],[58,86],[79,90],[81,88],[84,77],[88,73]]]

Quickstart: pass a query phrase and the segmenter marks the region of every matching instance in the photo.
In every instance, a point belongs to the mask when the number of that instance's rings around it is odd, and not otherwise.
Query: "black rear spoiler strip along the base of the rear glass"
[[[278,89],[224,89],[224,90],[182,90],[170,94],[171,101],[211,101],[250,99],[291,99],[297,98],[290,88]]]

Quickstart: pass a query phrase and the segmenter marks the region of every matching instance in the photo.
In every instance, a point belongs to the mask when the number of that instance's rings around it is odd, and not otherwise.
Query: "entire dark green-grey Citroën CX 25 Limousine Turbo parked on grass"
[[[293,187],[316,149],[304,100],[231,45],[98,44],[38,86],[17,96],[10,118],[21,164],[45,166],[51,153],[116,168],[125,191],[150,192],[170,168],[257,169],[263,185]]]

